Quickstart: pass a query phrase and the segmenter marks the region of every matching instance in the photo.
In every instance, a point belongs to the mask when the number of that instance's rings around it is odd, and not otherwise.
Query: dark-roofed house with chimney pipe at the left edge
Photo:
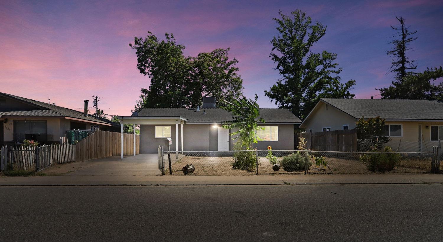
[[[119,124],[88,115],[88,100],[84,106],[81,112],[0,92],[0,145],[65,143],[66,131],[74,129],[120,131]]]

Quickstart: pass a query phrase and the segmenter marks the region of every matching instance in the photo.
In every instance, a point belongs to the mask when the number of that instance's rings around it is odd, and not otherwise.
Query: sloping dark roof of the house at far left
[[[65,116],[70,118],[83,119],[86,121],[119,125],[106,119],[99,119],[90,115],[84,116],[83,112],[81,111],[76,111],[69,108],[63,108],[60,106],[55,106],[20,96],[14,96],[3,92],[0,92],[0,96],[5,96],[8,98],[26,102],[27,104],[31,105],[28,108],[0,108],[0,117],[1,116]]]

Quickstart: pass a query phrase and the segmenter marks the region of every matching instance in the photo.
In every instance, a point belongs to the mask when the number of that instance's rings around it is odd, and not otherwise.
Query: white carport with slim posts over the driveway
[[[137,124],[151,124],[151,125],[174,125],[175,124],[175,147],[179,147],[179,124],[180,124],[180,141],[181,152],[183,154],[183,124],[187,121],[180,116],[138,116],[137,112],[134,112],[132,116],[119,116],[121,127],[121,159],[123,159],[123,126],[124,124],[133,124],[134,129],[134,156],[136,155],[136,125]],[[141,146],[141,140],[140,140]],[[175,157],[179,157],[179,149],[175,150]]]

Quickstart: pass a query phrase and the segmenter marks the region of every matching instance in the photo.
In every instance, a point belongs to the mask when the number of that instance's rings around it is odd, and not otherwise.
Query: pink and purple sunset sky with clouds
[[[357,98],[377,95],[375,88],[393,79],[385,51],[395,16],[418,30],[409,54],[417,70],[443,65],[443,1],[0,0],[0,92],[78,110],[98,95],[105,113],[130,115],[149,79],[136,69],[128,43],[146,31],[169,32],[185,55],[231,48],[245,96],[257,93],[260,107],[273,108],[263,93],[280,77],[269,58],[277,34],[272,18],[295,9],[327,26],[313,50],[338,54],[342,81],[357,81]]]

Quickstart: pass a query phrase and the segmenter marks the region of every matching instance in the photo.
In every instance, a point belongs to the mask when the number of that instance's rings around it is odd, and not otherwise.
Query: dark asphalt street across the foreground
[[[443,184],[0,187],[2,241],[442,241]]]

